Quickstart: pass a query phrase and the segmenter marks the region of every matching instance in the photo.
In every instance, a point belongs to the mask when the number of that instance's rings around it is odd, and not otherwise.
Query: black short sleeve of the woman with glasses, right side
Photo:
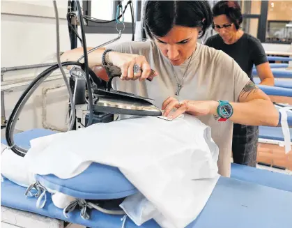
[[[251,38],[249,42],[251,42],[250,44],[252,48],[251,58],[252,61],[254,62],[254,65],[258,66],[262,63],[268,62],[266,52],[263,49],[263,45],[261,45],[261,42],[256,38]]]

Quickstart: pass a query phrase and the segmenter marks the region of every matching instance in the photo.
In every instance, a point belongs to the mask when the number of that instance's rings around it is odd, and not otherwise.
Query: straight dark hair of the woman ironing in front
[[[151,39],[167,35],[174,25],[201,27],[201,38],[212,24],[208,1],[146,1],[144,12],[144,28]]]

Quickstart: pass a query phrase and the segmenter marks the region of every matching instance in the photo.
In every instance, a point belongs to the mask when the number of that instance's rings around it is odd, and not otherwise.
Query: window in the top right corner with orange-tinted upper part
[[[267,43],[292,42],[292,1],[268,1]]]

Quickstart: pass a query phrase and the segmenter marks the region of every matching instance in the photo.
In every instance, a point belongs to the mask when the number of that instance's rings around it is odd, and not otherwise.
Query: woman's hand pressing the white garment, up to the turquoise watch
[[[163,116],[169,119],[176,119],[180,114],[187,113],[193,116],[204,116],[208,114],[215,114],[218,106],[218,102],[214,100],[183,100],[179,101],[176,98],[169,97],[164,100],[162,104],[162,110],[164,110]],[[171,112],[176,108],[175,112]]]

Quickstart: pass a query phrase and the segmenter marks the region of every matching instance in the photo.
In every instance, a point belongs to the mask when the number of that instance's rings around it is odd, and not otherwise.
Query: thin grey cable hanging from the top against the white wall
[[[53,4],[54,4],[55,17],[56,17],[56,60],[58,62],[59,68],[61,70],[61,73],[63,75],[63,79],[65,81],[65,84],[66,84],[66,87],[67,87],[68,93],[69,93],[69,100],[70,100],[70,105],[71,105],[71,109],[72,109],[72,112],[70,113],[70,117],[69,117],[69,120],[70,120],[69,130],[72,130],[74,128],[75,119],[76,119],[75,101],[73,99],[72,91],[70,89],[70,85],[69,85],[66,73],[65,73],[65,71],[62,67],[62,64],[61,64],[59,13],[58,13],[58,8],[56,6],[56,0],[53,0]]]

